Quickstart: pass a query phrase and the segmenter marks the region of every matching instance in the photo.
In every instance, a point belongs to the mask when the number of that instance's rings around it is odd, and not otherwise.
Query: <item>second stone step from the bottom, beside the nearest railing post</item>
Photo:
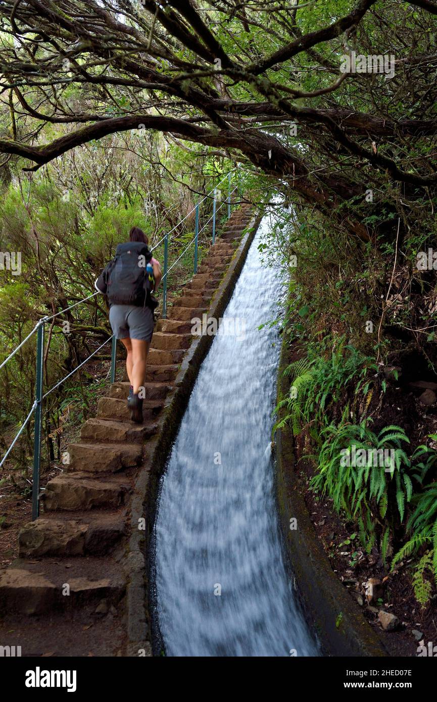
[[[89,521],[44,515],[25,524],[18,534],[20,558],[105,555],[125,533],[124,516],[109,512]]]

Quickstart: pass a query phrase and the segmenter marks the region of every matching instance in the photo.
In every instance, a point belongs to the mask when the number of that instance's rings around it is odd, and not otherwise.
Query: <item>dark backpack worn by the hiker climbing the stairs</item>
[[[110,305],[152,307],[153,284],[145,272],[151,260],[152,254],[141,241],[128,241],[117,246],[115,258],[106,270],[106,294]]]

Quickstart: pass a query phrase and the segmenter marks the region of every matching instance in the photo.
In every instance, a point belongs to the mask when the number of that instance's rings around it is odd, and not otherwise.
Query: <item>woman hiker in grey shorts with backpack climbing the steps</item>
[[[139,227],[132,227],[129,241],[117,246],[115,258],[94,284],[99,293],[107,296],[112,332],[126,348],[126,371],[131,384],[127,405],[131,420],[138,424],[143,421],[143,397],[139,395],[152,340],[153,310],[158,304],[153,293],[161,279],[161,266],[148,249],[148,237]]]

